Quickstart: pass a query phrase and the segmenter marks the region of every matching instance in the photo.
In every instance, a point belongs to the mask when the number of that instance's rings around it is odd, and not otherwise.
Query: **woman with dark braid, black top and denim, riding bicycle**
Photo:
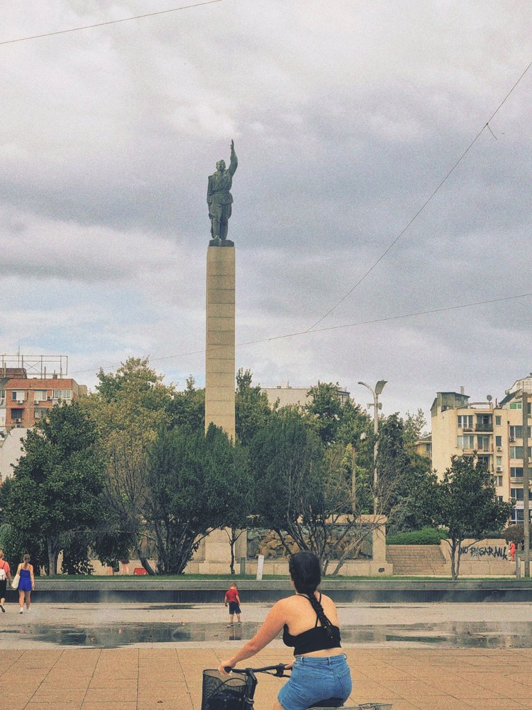
[[[340,646],[338,613],[333,600],[316,591],[321,582],[318,557],[297,552],[290,558],[290,577],[296,594],[272,606],[255,636],[235,655],[223,661],[221,673],[250,658],[283,630],[283,641],[294,646],[289,681],[279,691],[274,710],[307,710],[314,703],[338,698],[344,703],[351,692],[351,674]]]

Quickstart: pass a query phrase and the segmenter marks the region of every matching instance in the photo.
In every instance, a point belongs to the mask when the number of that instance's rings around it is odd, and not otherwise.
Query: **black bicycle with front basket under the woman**
[[[217,669],[207,668],[203,672],[201,710],[253,710],[255,689],[258,680],[256,673],[265,673],[277,678],[289,677],[283,663],[262,668],[226,668],[226,671],[238,674],[225,678]],[[309,710],[336,710],[341,705],[340,698],[326,698],[315,703]],[[391,703],[364,703],[362,705],[343,706],[344,710],[392,710]]]

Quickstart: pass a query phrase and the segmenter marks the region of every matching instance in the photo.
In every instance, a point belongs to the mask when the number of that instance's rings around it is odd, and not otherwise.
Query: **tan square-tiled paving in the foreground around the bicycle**
[[[532,650],[348,648],[352,701],[391,701],[393,710],[532,708]],[[1,707],[9,710],[199,710],[201,671],[228,648],[6,650]],[[267,649],[253,665],[285,660]],[[260,677],[257,709],[281,681]]]

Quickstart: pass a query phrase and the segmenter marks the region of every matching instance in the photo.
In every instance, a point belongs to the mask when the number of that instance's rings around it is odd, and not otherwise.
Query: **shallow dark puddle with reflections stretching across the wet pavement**
[[[18,634],[21,640],[40,641],[61,646],[116,648],[138,643],[180,643],[184,641],[248,640],[258,623],[243,623],[227,628],[221,623],[124,623],[121,626],[45,626],[31,624],[23,629],[0,631]],[[347,644],[438,645],[447,648],[532,648],[532,623],[420,623],[389,626],[344,626],[342,640]]]

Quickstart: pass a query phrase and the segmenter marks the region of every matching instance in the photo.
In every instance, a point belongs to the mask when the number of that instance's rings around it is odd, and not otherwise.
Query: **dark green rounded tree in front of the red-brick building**
[[[72,537],[96,525],[102,469],[94,424],[77,402],[55,405],[23,440],[6,517],[24,540],[44,540],[48,574]]]

